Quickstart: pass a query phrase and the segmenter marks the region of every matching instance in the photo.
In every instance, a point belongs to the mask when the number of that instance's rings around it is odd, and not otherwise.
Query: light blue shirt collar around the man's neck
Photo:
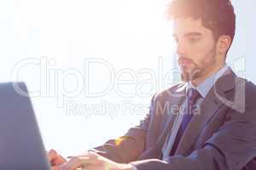
[[[217,82],[219,77],[222,77],[224,75],[224,72],[229,69],[228,65],[224,65],[220,70],[216,71],[212,74],[212,76],[207,77],[207,79],[204,82],[201,82],[197,87],[195,87],[191,82],[188,82],[188,88],[195,88],[199,94],[201,94],[201,97],[205,98],[207,94],[209,93],[210,89],[213,87],[214,83]]]

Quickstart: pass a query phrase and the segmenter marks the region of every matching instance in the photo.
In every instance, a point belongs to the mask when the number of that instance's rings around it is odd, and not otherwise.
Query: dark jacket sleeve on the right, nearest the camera
[[[194,150],[189,156],[170,156],[165,161],[148,159],[131,163],[138,170],[241,170],[256,157],[255,96],[256,90],[250,82],[246,86],[245,112],[230,108],[223,126],[207,140],[203,148]]]

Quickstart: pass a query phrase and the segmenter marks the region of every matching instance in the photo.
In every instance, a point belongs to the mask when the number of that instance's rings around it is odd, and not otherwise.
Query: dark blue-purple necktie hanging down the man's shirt
[[[170,156],[173,156],[175,154],[175,151],[177,150],[177,145],[180,142],[180,139],[183,136],[184,131],[186,130],[186,127],[188,126],[189,122],[191,121],[193,117],[193,106],[195,105],[195,102],[197,99],[199,99],[201,95],[198,93],[198,91],[195,88],[189,88],[187,92],[187,103],[183,111],[185,111],[183,115],[183,121],[181,122],[180,127],[177,130],[177,136],[174,141],[174,144],[172,146],[172,150],[170,153]]]

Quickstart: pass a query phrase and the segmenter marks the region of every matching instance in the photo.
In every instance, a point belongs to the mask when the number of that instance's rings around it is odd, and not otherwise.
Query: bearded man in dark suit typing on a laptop
[[[256,169],[256,88],[225,64],[235,36],[229,0],[174,0],[168,8],[183,82],[155,94],[148,116],[125,136],[53,169]]]

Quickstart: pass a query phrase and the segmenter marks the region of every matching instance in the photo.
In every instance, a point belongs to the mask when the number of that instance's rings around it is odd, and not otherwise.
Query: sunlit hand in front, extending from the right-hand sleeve
[[[61,170],[75,170],[79,167],[83,170],[132,170],[132,166],[129,164],[116,163],[95,152],[88,152],[82,156],[73,156],[70,161],[63,164]]]

